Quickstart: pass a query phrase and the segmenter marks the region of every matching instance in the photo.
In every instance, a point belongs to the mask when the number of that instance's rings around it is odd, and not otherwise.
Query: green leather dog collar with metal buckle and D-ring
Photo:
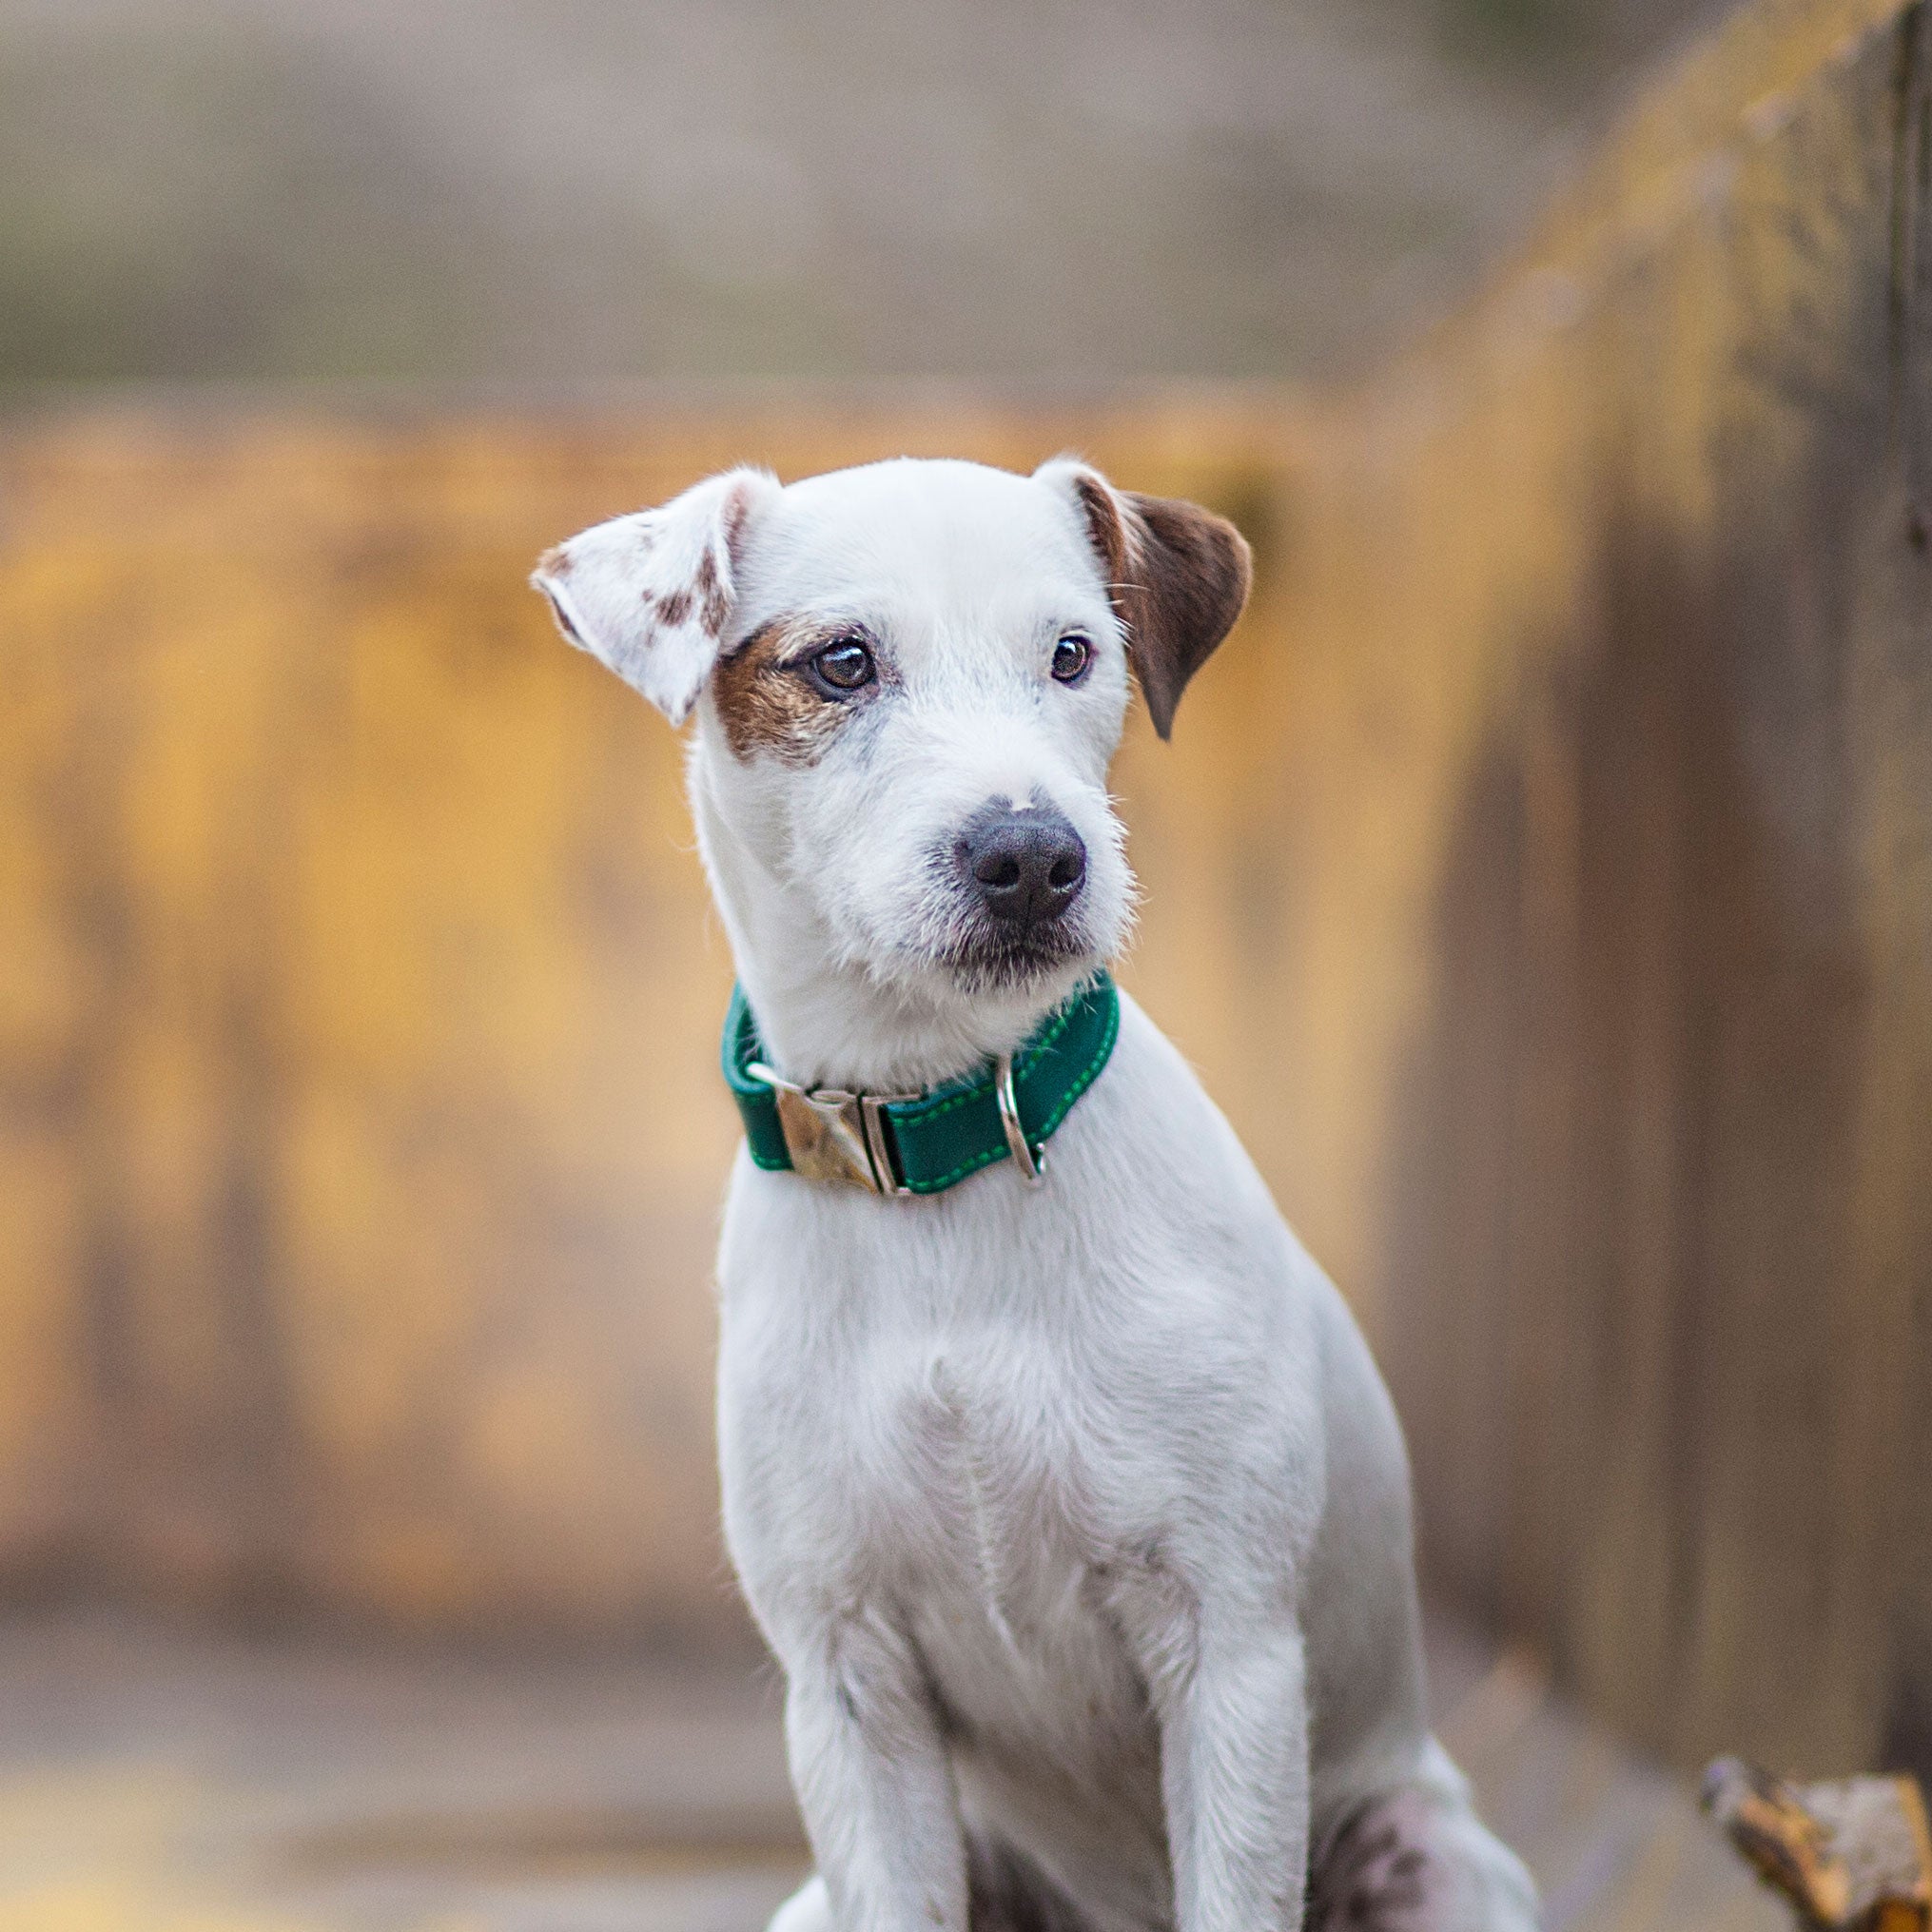
[[[1010,1057],[929,1094],[804,1090],[765,1065],[744,987],[724,1016],[724,1084],[752,1159],[871,1194],[941,1194],[1012,1159],[1037,1184],[1045,1142],[1094,1084],[1121,1032],[1121,995],[1095,974]]]

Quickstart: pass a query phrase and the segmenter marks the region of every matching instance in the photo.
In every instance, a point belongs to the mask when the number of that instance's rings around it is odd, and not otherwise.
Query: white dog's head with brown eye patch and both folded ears
[[[1223,518],[1113,489],[887,462],[755,469],[572,537],[564,636],[672,723],[740,951],[904,1003],[1037,1012],[1126,937],[1107,798],[1128,667],[1165,738],[1248,595]],[[781,916],[782,908],[782,916]]]

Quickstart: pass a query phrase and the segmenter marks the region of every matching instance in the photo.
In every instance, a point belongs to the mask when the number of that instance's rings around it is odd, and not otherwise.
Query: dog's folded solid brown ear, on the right
[[[1167,738],[1188,678],[1248,603],[1254,560],[1246,537],[1213,510],[1115,489],[1066,456],[1034,475],[1065,491],[1080,512],[1153,728]]]

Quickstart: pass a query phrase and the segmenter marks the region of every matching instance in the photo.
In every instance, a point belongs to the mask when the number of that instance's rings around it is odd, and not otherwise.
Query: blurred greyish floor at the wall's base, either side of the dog
[[[1669,1777],[1437,1623],[1439,1729],[1549,1932],[1785,1932]],[[0,1627],[0,1932],[757,1932],[804,1870],[775,1687]]]

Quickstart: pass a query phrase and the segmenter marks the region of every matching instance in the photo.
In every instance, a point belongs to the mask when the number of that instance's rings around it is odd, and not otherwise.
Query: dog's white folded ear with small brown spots
[[[529,582],[580,651],[682,724],[730,628],[746,531],[777,493],[765,469],[726,469],[545,551]]]

